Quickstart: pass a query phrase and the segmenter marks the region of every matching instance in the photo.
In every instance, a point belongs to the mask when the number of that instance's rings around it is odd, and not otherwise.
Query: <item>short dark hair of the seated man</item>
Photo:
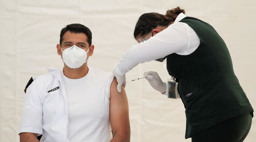
[[[91,30],[82,24],[69,24],[65,28],[63,28],[60,34],[60,45],[63,41],[63,35],[67,31],[74,33],[85,33],[85,35],[87,35],[87,42],[89,43],[89,46],[91,46]]]

